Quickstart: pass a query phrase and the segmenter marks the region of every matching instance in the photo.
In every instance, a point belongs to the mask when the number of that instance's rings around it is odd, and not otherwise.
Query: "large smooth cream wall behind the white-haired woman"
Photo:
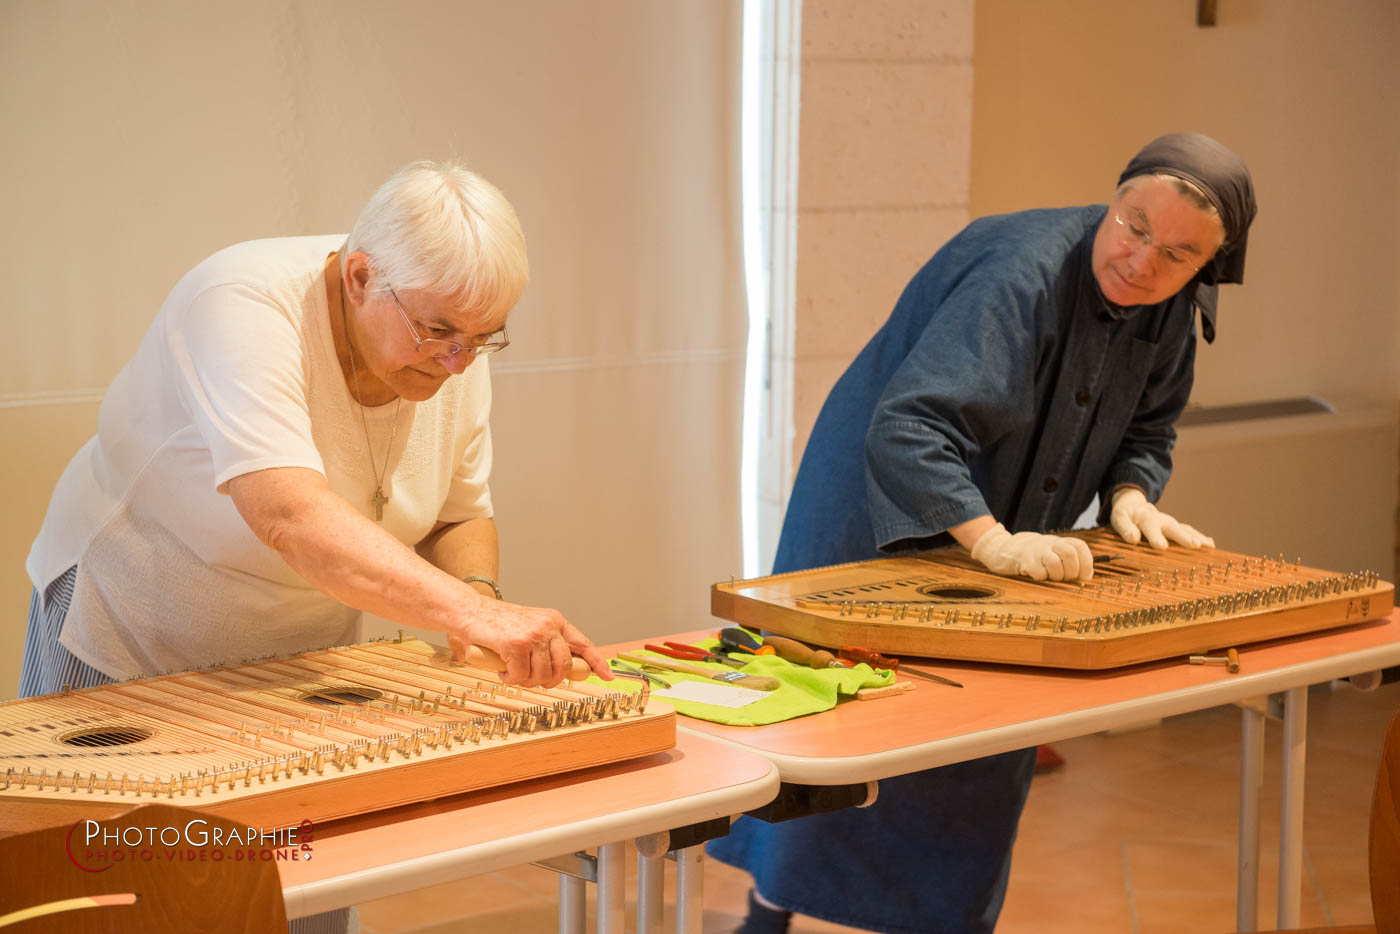
[[[176,277],[241,239],[343,231],[423,157],[500,185],[529,241],[493,364],[507,595],[599,640],[704,625],[741,566],[739,13],[7,3],[0,696],[49,492]]]

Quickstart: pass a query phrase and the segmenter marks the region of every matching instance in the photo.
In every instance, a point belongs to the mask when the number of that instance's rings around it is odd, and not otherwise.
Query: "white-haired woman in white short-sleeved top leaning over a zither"
[[[515,211],[416,162],[349,238],[260,239],[186,273],[118,374],[28,559],[21,693],[350,641],[360,612],[553,685],[553,609],[500,599],[490,377],[528,279]]]

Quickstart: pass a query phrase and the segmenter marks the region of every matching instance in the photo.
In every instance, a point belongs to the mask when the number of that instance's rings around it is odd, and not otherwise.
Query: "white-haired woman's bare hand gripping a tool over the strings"
[[[574,655],[612,681],[602,654],[557,609],[482,598],[468,612],[470,618],[448,633],[454,657],[461,658],[468,644],[490,648],[505,662],[501,681],[507,685],[553,688],[568,675]]]

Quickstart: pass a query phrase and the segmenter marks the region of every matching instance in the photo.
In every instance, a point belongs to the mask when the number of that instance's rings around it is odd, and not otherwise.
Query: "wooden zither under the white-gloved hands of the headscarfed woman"
[[[720,583],[710,612],[816,646],[1099,669],[1380,619],[1394,599],[1371,571],[1068,535],[1093,553],[1088,583],[1000,577],[951,548]]]

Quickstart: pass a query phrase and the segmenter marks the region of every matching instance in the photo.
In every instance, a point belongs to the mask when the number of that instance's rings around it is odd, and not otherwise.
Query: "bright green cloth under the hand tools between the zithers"
[[[715,648],[720,643],[708,639],[694,644],[704,648]],[[627,654],[644,658],[654,653],[638,648]],[[671,661],[664,655],[657,655],[657,658]],[[633,662],[626,664],[633,665]],[[875,669],[869,665],[855,665],[854,668],[808,668],[806,665],[794,665],[777,655],[753,655],[752,661],[745,664],[743,668],[734,668],[732,665],[721,665],[718,662],[687,664],[713,668],[715,672],[742,671],[746,675],[767,675],[783,682],[783,686],[777,690],[763,692],[764,696],[760,700],[755,700],[743,707],[718,707],[715,704],[680,700],[678,697],[658,697],[658,700],[664,700],[675,707],[679,714],[697,720],[710,720],[711,723],[729,724],[731,727],[762,727],[769,723],[780,723],[794,717],[820,713],[834,707],[840,697],[854,696],[861,688],[883,688],[895,681],[893,672]],[[672,685],[678,685],[682,681],[708,681],[700,675],[690,675],[683,671],[662,671],[655,674]],[[609,688],[641,690],[641,682],[633,678],[617,678],[612,682],[602,682],[598,678],[591,678],[589,681],[599,685],[608,683]],[[657,685],[651,688],[655,690]]]

